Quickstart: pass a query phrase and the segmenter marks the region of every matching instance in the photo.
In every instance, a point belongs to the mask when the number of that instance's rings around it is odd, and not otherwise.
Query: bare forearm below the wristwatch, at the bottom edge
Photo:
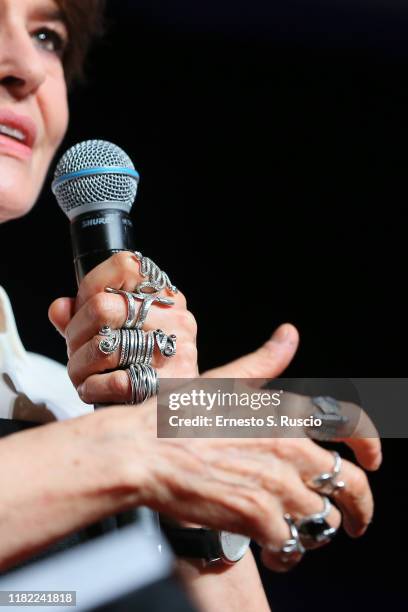
[[[232,566],[178,562],[181,578],[201,612],[269,612],[255,560],[250,551]]]

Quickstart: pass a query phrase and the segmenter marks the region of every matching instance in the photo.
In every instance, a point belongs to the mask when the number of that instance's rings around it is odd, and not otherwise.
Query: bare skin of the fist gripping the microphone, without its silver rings
[[[99,348],[102,340],[100,330],[105,326],[112,330],[123,329],[129,315],[133,319],[139,314],[148,299],[148,293],[144,294],[145,299],[144,295],[138,299],[109,293],[105,289],[113,287],[134,291],[138,284],[146,280],[140,267],[139,259],[132,253],[117,253],[89,272],[81,282],[75,302],[62,298],[50,307],[50,318],[67,341],[69,375],[87,403],[121,403],[130,400],[128,375],[126,372],[114,372],[119,367],[121,338],[117,350],[106,355]],[[163,357],[155,338],[151,365],[160,370],[161,377],[196,378],[198,368],[195,318],[186,309],[186,299],[182,293],[172,293],[173,304],[166,304],[160,301],[162,299],[161,295],[151,297],[147,319],[143,325],[144,339],[147,332],[157,329],[168,335],[174,334],[177,338],[177,352],[171,359]],[[136,348],[133,344],[135,330],[132,334],[129,346]],[[150,349],[149,345],[149,352]],[[137,351],[136,354],[132,353],[135,358],[138,358]],[[144,354],[143,347],[142,352]]]

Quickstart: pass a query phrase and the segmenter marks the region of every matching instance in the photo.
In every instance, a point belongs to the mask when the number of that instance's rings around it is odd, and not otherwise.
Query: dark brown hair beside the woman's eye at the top
[[[103,32],[105,0],[57,0],[69,33],[63,62],[68,85],[84,75],[85,57],[94,38]]]

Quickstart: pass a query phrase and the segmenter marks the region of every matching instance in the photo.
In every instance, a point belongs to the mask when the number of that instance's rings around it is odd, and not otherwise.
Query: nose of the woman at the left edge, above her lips
[[[41,53],[21,25],[0,23],[0,89],[16,99],[34,93],[46,77]]]

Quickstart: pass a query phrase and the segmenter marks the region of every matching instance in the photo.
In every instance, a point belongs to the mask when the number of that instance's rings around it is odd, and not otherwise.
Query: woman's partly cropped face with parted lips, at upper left
[[[68,124],[54,0],[0,0],[0,222],[35,203]]]

